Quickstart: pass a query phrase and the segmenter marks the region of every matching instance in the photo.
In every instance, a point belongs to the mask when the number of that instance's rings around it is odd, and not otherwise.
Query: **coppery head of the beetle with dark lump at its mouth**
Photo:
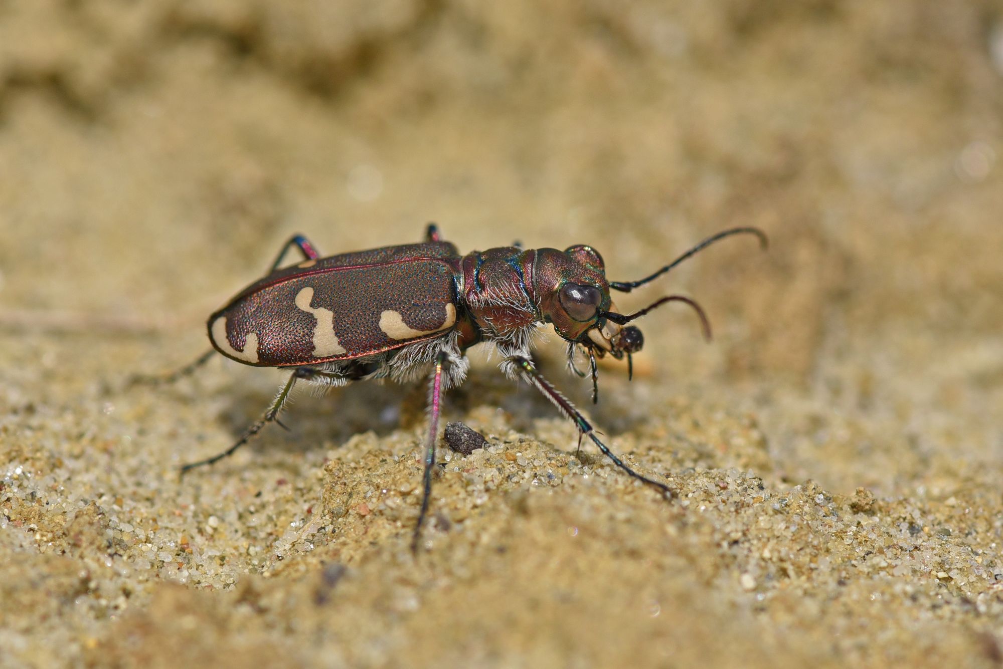
[[[568,342],[620,358],[641,350],[644,337],[634,326],[623,327],[607,314],[616,312],[610,298],[603,256],[592,246],[575,244],[563,251],[541,248],[534,272],[536,293],[545,320]]]

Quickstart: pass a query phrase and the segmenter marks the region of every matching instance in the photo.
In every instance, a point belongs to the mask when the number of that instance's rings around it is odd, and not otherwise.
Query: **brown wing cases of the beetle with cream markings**
[[[352,360],[440,337],[456,322],[454,270],[419,258],[303,269],[245,290],[209,320],[213,346],[247,365]]]

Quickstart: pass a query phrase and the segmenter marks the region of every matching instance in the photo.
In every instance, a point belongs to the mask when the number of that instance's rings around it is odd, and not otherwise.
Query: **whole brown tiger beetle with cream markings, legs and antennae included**
[[[715,241],[734,234],[753,234],[766,246],[766,235],[754,227],[735,227],[714,234],[658,271],[636,281],[609,281],[603,257],[592,246],[524,249],[519,245],[460,255],[429,224],[420,243],[384,246],[321,257],[302,235],[282,247],[264,278],[239,292],[209,317],[209,351],[192,365],[165,377],[174,381],[195,371],[214,353],[254,367],[292,370],[275,400],[229,449],[185,465],[187,472],[233,454],[269,423],[278,423],[290,393],[304,382],[322,388],[353,381],[389,379],[398,383],[422,377],[429,384],[429,425],[425,442],[421,510],[411,540],[416,551],[428,513],[435,443],[442,394],[459,386],[469,369],[465,352],[490,344],[501,357],[500,368],[513,380],[522,378],[571,419],[581,439],[588,437],[613,464],[631,477],[671,496],[664,483],[639,474],[596,436],[592,424],[537,370],[533,332],[545,323],[568,343],[568,366],[580,377],[591,376],[592,400],[598,401],[597,359],[627,359],[644,345],[641,330],[627,323],[670,301],[696,310],[706,338],[710,325],[703,309],[689,297],[667,295],[625,314],[610,290],[630,292]],[[283,266],[296,247],[303,260]],[[589,361],[589,373],[575,365],[576,353]]]

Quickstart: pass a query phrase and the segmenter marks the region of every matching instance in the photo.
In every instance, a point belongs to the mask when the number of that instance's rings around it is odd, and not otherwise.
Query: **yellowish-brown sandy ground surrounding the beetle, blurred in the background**
[[[1003,6],[0,1],[0,664],[1003,663]],[[588,242],[658,285],[588,407],[478,354],[302,395],[207,314],[282,241]],[[582,406],[588,384],[540,347]]]

